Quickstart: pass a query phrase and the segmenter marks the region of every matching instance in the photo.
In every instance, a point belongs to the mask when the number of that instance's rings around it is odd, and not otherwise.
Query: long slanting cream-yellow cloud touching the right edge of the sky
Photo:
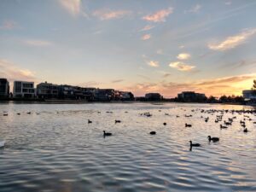
[[[213,50],[233,49],[236,48],[236,46],[243,44],[247,40],[247,38],[252,37],[255,33],[256,28],[247,29],[240,34],[226,38],[224,41],[218,44],[208,44],[208,48]]]

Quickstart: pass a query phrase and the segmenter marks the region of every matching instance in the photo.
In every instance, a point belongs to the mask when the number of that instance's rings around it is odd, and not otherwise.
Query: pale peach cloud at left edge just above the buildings
[[[14,63],[3,59],[0,59],[0,77],[6,78],[9,81],[24,80],[38,82],[35,72],[16,67]]]

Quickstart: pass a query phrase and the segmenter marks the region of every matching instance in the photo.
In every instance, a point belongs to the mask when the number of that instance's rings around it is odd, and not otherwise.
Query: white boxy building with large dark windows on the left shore
[[[14,97],[15,98],[35,98],[36,89],[34,88],[34,82],[15,81]]]

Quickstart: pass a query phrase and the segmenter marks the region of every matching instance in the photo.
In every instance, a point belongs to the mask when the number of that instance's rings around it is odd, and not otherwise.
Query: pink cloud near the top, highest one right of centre
[[[151,22],[165,22],[166,17],[172,14],[172,8],[169,9],[161,9],[155,12],[152,15],[143,16],[143,20],[151,21]]]

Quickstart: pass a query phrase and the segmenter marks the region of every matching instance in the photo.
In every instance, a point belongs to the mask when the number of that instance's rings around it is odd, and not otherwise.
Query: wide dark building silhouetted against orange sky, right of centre
[[[207,96],[203,93],[195,93],[194,91],[183,91],[177,94],[177,99],[183,102],[203,102],[207,100]]]

